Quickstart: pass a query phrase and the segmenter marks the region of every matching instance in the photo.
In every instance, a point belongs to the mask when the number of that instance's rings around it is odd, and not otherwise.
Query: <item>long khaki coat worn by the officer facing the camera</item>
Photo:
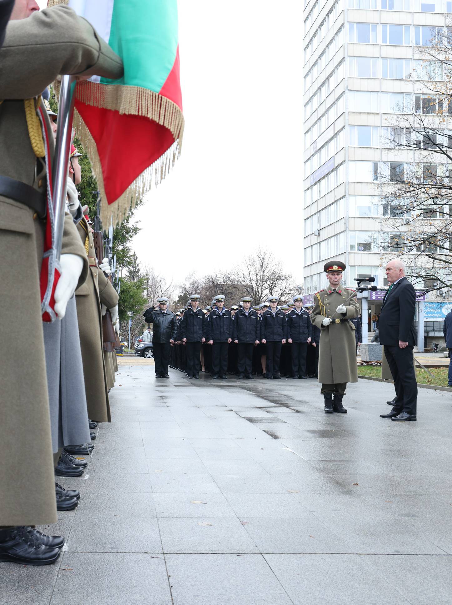
[[[320,328],[319,382],[338,384],[339,382],[358,382],[356,364],[355,326],[351,321],[336,323],[336,319],[353,319],[359,315],[359,304],[353,296],[346,302],[353,290],[338,287],[317,292],[314,296],[314,308],[311,321]],[[345,304],[347,313],[336,313],[339,304]],[[332,317],[333,323],[324,326],[322,321]]]

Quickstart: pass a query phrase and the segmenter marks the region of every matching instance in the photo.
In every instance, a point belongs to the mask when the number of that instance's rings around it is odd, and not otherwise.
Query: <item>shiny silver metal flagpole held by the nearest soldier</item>
[[[63,240],[66,189],[69,171],[69,155],[72,141],[72,120],[74,116],[75,87],[74,76],[62,76],[58,103],[58,126],[56,131],[55,156],[53,165],[53,211],[55,217],[56,258],[61,255]]]

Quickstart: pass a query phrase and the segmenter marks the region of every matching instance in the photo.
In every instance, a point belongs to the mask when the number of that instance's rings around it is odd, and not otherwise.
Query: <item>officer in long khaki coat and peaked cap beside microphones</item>
[[[316,292],[311,321],[320,328],[319,382],[324,396],[325,413],[346,414],[342,398],[347,382],[358,382],[355,326],[351,321],[359,314],[353,290],[341,285],[346,265],[330,261],[324,266],[329,287]]]

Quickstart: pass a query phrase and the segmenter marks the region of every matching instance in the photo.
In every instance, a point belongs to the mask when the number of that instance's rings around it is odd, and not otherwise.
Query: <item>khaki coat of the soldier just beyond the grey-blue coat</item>
[[[96,422],[111,422],[107,368],[102,346],[101,304],[105,304],[109,309],[114,307],[118,295],[110,281],[97,267],[93,235],[85,217],[77,225],[77,231],[85,250],[88,250],[90,263],[90,275],[87,281],[76,290],[88,416]],[[110,373],[110,365],[108,371]]]

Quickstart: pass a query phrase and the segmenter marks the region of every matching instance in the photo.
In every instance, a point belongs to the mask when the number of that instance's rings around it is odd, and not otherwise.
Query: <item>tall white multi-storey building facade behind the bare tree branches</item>
[[[439,43],[451,12],[450,0],[305,0],[306,293],[325,286],[323,266],[332,258],[346,263],[347,286],[365,275],[387,285],[383,265],[397,250],[388,236],[387,254],[375,243],[390,216],[379,180],[414,161],[413,151],[385,145],[388,123],[414,107],[423,111],[413,74],[422,47]]]

